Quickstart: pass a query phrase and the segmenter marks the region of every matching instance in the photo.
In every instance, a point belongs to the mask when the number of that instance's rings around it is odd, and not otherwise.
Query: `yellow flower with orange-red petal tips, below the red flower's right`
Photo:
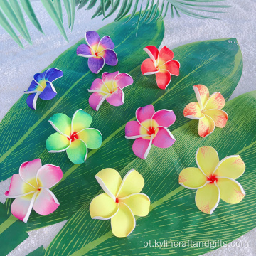
[[[198,134],[204,138],[211,134],[215,126],[225,127],[228,121],[228,114],[221,110],[225,105],[225,99],[220,92],[214,92],[209,96],[209,90],[205,85],[195,85],[198,102],[191,102],[184,108],[184,117],[198,119]]]

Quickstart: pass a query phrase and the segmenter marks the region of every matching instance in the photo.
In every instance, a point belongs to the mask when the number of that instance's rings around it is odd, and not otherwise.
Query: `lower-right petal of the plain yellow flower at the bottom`
[[[119,198],[119,201],[125,203],[134,215],[143,217],[149,214],[150,199],[144,193],[134,193],[124,198]]]

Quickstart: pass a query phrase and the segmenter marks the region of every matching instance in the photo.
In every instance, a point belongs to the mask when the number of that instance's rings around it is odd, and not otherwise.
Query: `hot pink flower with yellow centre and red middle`
[[[176,119],[172,110],[155,112],[153,105],[147,105],[139,107],[135,114],[137,121],[127,122],[125,137],[135,139],[132,150],[136,156],[146,159],[152,144],[159,148],[174,144],[174,135],[167,129]]]

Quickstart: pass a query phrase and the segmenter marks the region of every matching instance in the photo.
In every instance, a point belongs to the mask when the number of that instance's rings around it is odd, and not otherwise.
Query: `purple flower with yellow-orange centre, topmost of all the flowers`
[[[92,73],[99,73],[107,65],[117,65],[117,53],[114,52],[114,43],[110,36],[100,36],[95,31],[85,33],[86,44],[78,46],[77,55],[88,59],[88,67]]]

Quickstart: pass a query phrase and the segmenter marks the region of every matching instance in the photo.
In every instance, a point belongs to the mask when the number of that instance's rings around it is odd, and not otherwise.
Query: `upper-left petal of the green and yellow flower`
[[[57,132],[65,135],[65,137],[70,136],[71,120],[66,114],[53,114],[53,116],[50,117],[49,122]]]

